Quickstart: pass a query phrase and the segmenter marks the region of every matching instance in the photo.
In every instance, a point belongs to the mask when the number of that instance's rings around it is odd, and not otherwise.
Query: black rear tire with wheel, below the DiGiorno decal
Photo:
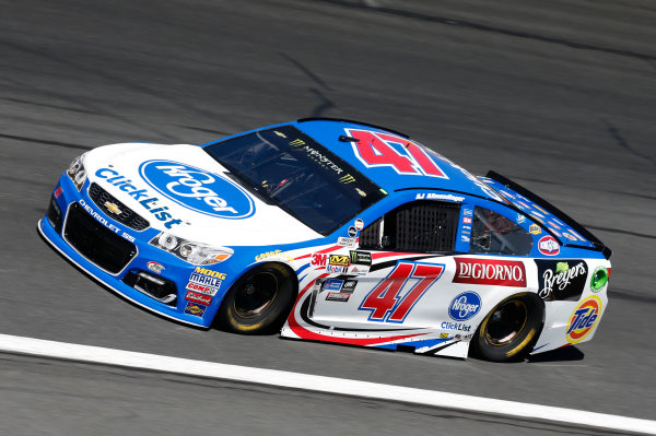
[[[535,345],[544,318],[536,294],[518,294],[499,303],[471,339],[472,354],[492,362],[524,358]]]

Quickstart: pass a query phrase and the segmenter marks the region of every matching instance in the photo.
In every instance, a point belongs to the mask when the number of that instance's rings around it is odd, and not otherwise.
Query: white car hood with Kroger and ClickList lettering
[[[266,246],[321,237],[250,195],[197,145],[114,144],[84,160],[91,182],[151,227],[216,246]]]

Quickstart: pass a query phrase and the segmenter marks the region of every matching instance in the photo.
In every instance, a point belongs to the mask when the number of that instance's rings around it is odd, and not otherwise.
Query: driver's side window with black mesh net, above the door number
[[[360,246],[374,250],[450,252],[459,216],[459,203],[413,201],[364,228]]]

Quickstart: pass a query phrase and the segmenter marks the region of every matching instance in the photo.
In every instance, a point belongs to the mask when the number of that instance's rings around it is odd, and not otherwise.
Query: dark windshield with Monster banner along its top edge
[[[323,235],[387,195],[293,126],[229,139],[204,151],[262,200]]]

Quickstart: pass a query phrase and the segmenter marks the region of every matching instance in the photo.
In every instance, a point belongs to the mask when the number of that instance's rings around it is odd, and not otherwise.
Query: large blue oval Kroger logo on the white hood
[[[192,211],[233,220],[255,212],[246,191],[203,169],[172,161],[148,161],[139,172],[150,186]]]

